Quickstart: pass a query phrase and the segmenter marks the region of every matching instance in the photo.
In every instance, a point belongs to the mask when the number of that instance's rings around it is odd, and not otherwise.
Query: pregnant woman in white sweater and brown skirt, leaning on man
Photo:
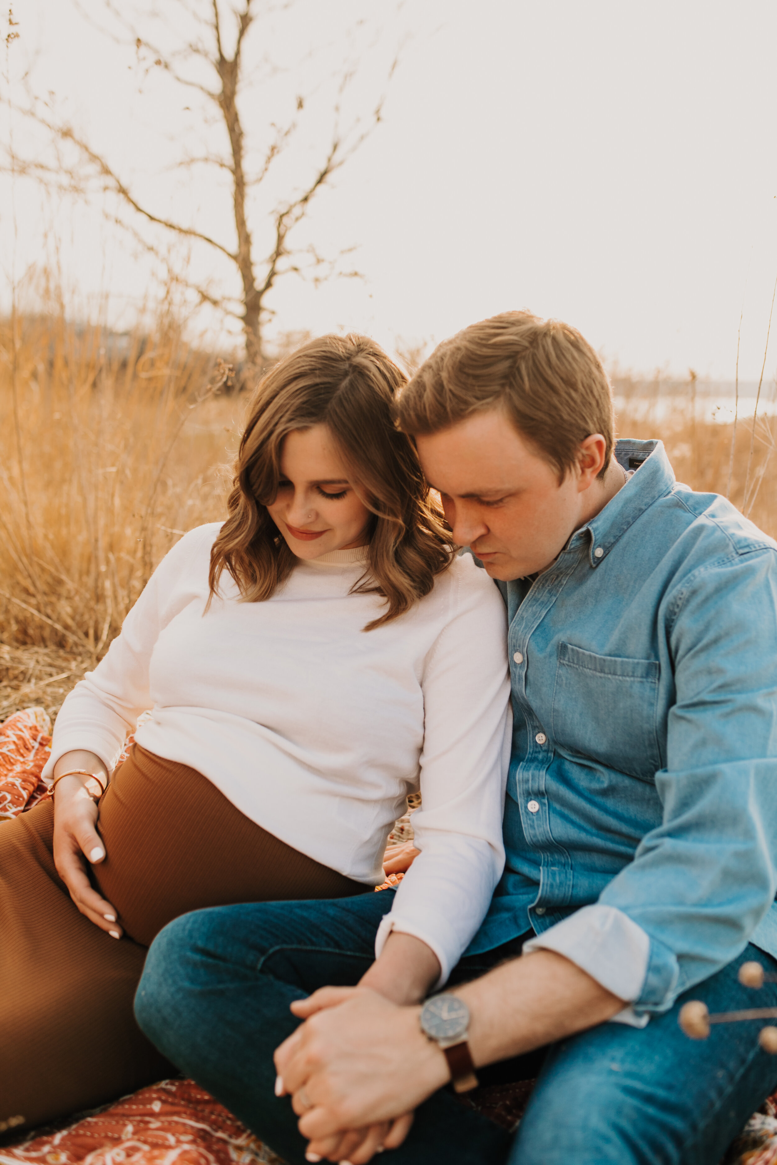
[[[403,383],[363,337],[277,365],[226,522],[172,548],[65,700],[54,802],[0,824],[0,1121],[169,1073],[133,1018],[155,934],[372,891],[409,792],[421,855],[379,963],[394,930],[408,973],[423,948],[444,974],[475,932],[503,863],[506,614],[395,428]]]

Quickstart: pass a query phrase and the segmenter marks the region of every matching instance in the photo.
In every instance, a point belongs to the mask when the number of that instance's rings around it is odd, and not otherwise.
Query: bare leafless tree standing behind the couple
[[[85,10],[79,0],[73,0],[76,7],[92,23],[93,12]],[[190,291],[193,291],[199,303],[207,303],[219,311],[239,319],[242,324],[246,343],[246,356],[252,368],[261,368],[266,362],[266,324],[271,316],[268,304],[270,292],[278,280],[289,274],[312,277],[316,282],[332,274],[358,275],[356,271],[344,271],[340,260],[347,250],[340,250],[334,256],[323,256],[318,249],[309,245],[301,249],[292,239],[295,228],[306,217],[316,195],[325,188],[332,177],[363,143],[366,137],[379,125],[384,100],[383,96],[369,110],[367,115],[352,114],[346,125],[342,123],[342,94],[346,92],[358,65],[353,62],[341,62],[339,83],[331,108],[331,134],[319,147],[318,161],[308,170],[302,182],[284,196],[276,197],[270,205],[256,206],[252,197],[257,188],[267,183],[281,155],[288,150],[298,130],[299,119],[306,108],[309,98],[298,94],[292,99],[292,107],[285,119],[274,119],[269,111],[264,114],[262,129],[266,130],[264,148],[256,157],[253,169],[249,167],[246,108],[241,105],[241,94],[246,80],[246,44],[249,35],[261,24],[262,17],[289,9],[294,0],[273,5],[270,0],[240,0],[240,3],[228,7],[221,0],[167,0],[175,3],[184,27],[195,28],[197,35],[189,38],[178,35],[178,43],[163,45],[149,31],[154,20],[158,22],[158,7],[151,12],[132,13],[126,3],[114,0],[101,0],[104,17],[113,23],[112,29],[101,28],[106,35],[123,44],[132,45],[139,66],[148,75],[153,70],[161,71],[186,91],[196,91],[205,99],[214,113],[214,123],[220,127],[221,149],[210,146],[198,155],[184,156],[176,165],[193,172],[198,167],[206,167],[228,175],[234,234],[232,241],[222,241],[200,230],[196,223],[177,220],[156,210],[149,204],[148,197],[141,197],[133,189],[130,178],[121,172],[120,163],[113,162],[105,151],[93,148],[86,136],[79,133],[70,120],[57,115],[56,106],[49,100],[40,100],[30,94],[28,105],[21,111],[33,118],[51,135],[51,141],[59,153],[54,161],[38,158],[15,160],[16,174],[36,176],[49,183],[58,183],[61,189],[80,196],[94,195],[97,191],[110,192],[119,211],[111,216],[115,223],[129,231],[137,243],[156,259],[168,264],[168,276],[174,277]],[[169,9],[168,9],[169,10]],[[360,23],[363,23],[361,21]],[[167,22],[168,29],[171,22]],[[255,35],[255,34],[254,34]],[[264,44],[264,61],[271,59],[271,45]],[[390,80],[397,61],[396,57],[387,69],[386,83]],[[319,94],[320,97],[320,94]],[[313,98],[315,100],[315,98]],[[269,133],[267,126],[269,123]],[[75,161],[65,160],[62,150],[75,151]],[[252,158],[254,157],[252,153]],[[252,221],[253,206],[253,221]],[[260,226],[267,238],[269,232],[269,249],[257,257],[255,235],[257,217],[263,217]],[[149,236],[147,227],[161,228],[178,240],[185,240],[192,246],[202,246],[226,261],[234,275],[239,277],[240,292],[231,295],[224,284],[214,284],[207,280],[193,278],[190,270],[181,264],[171,263],[164,256],[160,245],[160,231]]]

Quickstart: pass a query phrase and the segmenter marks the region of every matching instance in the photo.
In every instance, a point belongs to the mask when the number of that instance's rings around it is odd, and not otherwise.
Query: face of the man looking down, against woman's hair
[[[471,546],[492,578],[523,578],[550,566],[586,521],[589,472],[558,471],[501,408],[416,437],[418,456],[443,499],[455,542]]]

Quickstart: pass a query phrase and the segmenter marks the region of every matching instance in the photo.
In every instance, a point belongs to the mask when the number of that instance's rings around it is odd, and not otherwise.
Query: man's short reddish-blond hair
[[[501,407],[559,480],[580,442],[601,433],[605,475],[613,451],[613,393],[601,360],[574,327],[529,311],[504,311],[440,344],[398,402],[400,428],[435,433]]]

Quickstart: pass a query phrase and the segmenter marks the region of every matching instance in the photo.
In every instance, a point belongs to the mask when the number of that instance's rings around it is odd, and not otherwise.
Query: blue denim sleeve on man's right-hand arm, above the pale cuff
[[[777,891],[777,553],[733,550],[663,617],[676,685],[663,819],[599,898],[650,940],[637,1014],[735,959]]]

